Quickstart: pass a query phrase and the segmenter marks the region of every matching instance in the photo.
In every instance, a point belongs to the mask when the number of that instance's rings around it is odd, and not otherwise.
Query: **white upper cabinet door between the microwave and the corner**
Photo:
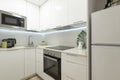
[[[39,7],[27,3],[27,29],[39,30]]]

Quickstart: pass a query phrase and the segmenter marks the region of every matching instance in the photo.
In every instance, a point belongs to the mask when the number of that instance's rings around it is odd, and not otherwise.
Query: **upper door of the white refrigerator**
[[[120,44],[120,5],[92,14],[92,44]]]

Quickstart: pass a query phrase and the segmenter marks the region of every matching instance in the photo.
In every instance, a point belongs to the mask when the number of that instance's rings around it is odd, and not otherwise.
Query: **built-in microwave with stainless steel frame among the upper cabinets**
[[[26,29],[26,17],[0,10],[0,27],[15,27]]]

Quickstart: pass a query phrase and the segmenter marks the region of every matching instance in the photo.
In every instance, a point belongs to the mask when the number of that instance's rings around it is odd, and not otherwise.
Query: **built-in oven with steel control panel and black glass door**
[[[60,52],[44,49],[44,72],[55,80],[61,80]]]

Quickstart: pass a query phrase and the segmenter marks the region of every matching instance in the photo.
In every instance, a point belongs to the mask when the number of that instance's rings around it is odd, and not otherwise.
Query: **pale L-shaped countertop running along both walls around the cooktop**
[[[0,48],[0,51],[10,51],[10,50],[18,50],[18,49],[33,49],[33,48],[40,48],[40,49],[48,49],[48,50],[54,50],[59,51],[61,53],[71,54],[71,55],[77,55],[77,56],[84,56],[87,57],[87,51],[86,50],[80,50],[79,48],[72,48],[68,50],[55,50],[55,49],[49,49],[47,47],[52,47],[57,45],[47,45],[47,46],[37,46],[37,47],[28,47],[28,46],[16,46],[13,48]]]

